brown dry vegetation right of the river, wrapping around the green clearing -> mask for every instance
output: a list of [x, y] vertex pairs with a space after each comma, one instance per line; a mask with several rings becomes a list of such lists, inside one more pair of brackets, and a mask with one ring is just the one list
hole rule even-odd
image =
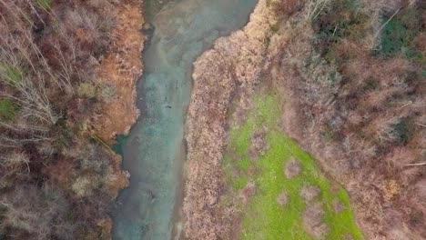
[[[362, 15], [351, 12], [356, 7]], [[189, 239], [232, 238], [233, 209], [220, 205], [228, 112], [231, 100], [239, 99], [237, 114], [244, 116], [258, 84], [285, 96], [283, 130], [349, 191], [366, 238], [425, 237], [424, 169], [416, 166], [424, 160], [425, 147], [421, 62], [371, 54], [371, 45], [383, 45], [378, 15], [419, 7], [404, 1], [351, 6], [346, 1], [260, 0], [242, 31], [218, 39], [198, 58], [187, 123]], [[332, 20], [330, 13], [340, 13], [340, 20]], [[347, 18], [357, 20], [348, 20], [348, 30], [339, 32], [340, 23], [333, 21]], [[324, 40], [321, 31], [327, 27]], [[424, 51], [419, 44], [424, 35], [413, 39], [418, 39], [413, 47]]]

